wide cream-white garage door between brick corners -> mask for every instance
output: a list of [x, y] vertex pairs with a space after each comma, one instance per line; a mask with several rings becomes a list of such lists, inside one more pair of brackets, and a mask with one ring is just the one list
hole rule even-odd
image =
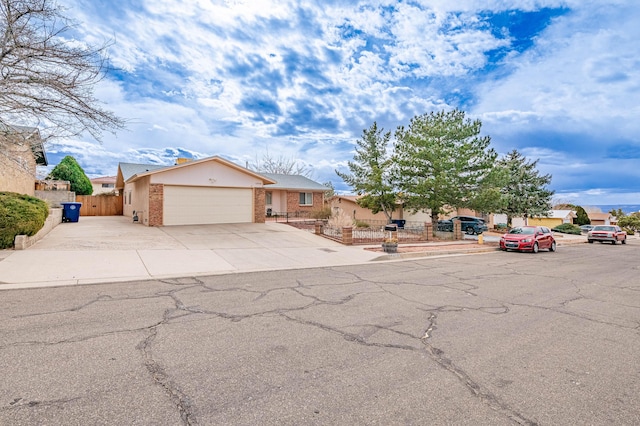
[[246, 188], [164, 187], [165, 225], [253, 222], [253, 191]]

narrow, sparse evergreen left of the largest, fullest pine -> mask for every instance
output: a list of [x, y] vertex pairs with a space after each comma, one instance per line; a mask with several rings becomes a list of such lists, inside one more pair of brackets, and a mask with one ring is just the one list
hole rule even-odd
[[361, 195], [358, 205], [374, 214], [383, 212], [388, 221], [396, 208], [397, 194], [391, 181], [391, 156], [387, 145], [391, 132], [383, 133], [377, 123], [362, 132], [353, 161], [348, 162], [351, 173], [336, 170], [338, 176]]

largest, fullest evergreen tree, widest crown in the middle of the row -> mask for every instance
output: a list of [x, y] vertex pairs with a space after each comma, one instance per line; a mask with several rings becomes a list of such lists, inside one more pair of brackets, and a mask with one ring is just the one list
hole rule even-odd
[[491, 138], [479, 136], [481, 126], [480, 120], [453, 110], [416, 116], [408, 128], [397, 129], [396, 178], [409, 209], [430, 210], [437, 223], [447, 208], [495, 199], [485, 184], [492, 180], [497, 154], [489, 148]]

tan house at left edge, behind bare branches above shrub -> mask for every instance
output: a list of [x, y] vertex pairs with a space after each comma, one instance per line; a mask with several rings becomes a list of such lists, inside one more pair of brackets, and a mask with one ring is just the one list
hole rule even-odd
[[0, 191], [34, 195], [36, 166], [47, 164], [37, 128], [0, 125]]

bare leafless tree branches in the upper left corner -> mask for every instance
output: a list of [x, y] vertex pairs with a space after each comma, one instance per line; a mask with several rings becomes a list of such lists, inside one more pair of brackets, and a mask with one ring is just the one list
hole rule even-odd
[[54, 0], [0, 0], [0, 125], [38, 128], [44, 141], [124, 128], [93, 94], [109, 43], [65, 38], [72, 29]]

